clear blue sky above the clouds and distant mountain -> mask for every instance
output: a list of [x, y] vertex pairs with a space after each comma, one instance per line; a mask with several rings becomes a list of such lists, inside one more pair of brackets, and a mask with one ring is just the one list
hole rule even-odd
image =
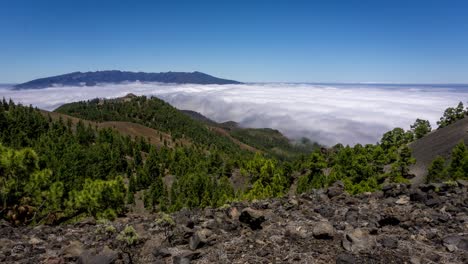
[[0, 0], [0, 83], [72, 71], [468, 83], [468, 1]]

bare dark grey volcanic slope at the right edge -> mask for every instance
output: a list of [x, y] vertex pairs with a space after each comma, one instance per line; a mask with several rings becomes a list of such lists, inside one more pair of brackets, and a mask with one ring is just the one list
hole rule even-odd
[[468, 144], [468, 117], [434, 130], [411, 143], [409, 146], [413, 150], [413, 157], [416, 159], [416, 164], [411, 167], [411, 173], [416, 175], [412, 182], [414, 184], [422, 183], [431, 162], [437, 156], [449, 158], [452, 149], [462, 140], [465, 144]]

